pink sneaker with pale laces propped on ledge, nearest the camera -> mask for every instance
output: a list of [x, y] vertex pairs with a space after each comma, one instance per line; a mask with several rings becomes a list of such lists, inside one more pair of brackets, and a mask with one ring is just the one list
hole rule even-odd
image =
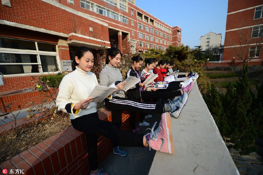
[[[156, 124], [157, 122], [155, 122]], [[153, 131], [155, 124], [153, 125], [152, 132], [146, 135], [150, 149], [161, 151], [164, 153], [174, 154], [174, 141], [172, 136], [172, 124], [171, 116], [168, 112], [162, 113], [162, 119], [159, 127]]]

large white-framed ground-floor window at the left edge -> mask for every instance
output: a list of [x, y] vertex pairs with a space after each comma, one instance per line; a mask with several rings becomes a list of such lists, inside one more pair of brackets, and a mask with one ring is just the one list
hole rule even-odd
[[[0, 37], [0, 70], [3, 74], [51, 72], [58, 68], [57, 57], [55, 44]], [[70, 60], [65, 61], [71, 64]]]

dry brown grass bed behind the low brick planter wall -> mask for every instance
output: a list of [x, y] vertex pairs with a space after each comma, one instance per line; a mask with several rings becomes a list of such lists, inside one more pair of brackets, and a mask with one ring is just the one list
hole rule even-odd
[[51, 118], [19, 128], [17, 136], [14, 129], [1, 135], [0, 164], [70, 126], [68, 114], [55, 114]]

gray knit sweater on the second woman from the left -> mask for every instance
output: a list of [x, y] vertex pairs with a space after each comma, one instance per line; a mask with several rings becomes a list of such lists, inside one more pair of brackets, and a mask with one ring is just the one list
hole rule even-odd
[[[117, 67], [106, 64], [100, 73], [100, 85], [108, 87], [116, 81], [123, 81], [120, 70]], [[125, 98], [123, 90], [113, 92], [112, 96]]]

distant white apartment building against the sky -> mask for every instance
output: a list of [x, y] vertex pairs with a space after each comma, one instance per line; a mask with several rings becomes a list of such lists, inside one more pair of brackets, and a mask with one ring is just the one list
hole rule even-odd
[[205, 34], [204, 36], [200, 37], [200, 49], [205, 51], [208, 50], [211, 47], [221, 46], [221, 40], [222, 40], [222, 34], [216, 34], [214, 32], [209, 32]]

